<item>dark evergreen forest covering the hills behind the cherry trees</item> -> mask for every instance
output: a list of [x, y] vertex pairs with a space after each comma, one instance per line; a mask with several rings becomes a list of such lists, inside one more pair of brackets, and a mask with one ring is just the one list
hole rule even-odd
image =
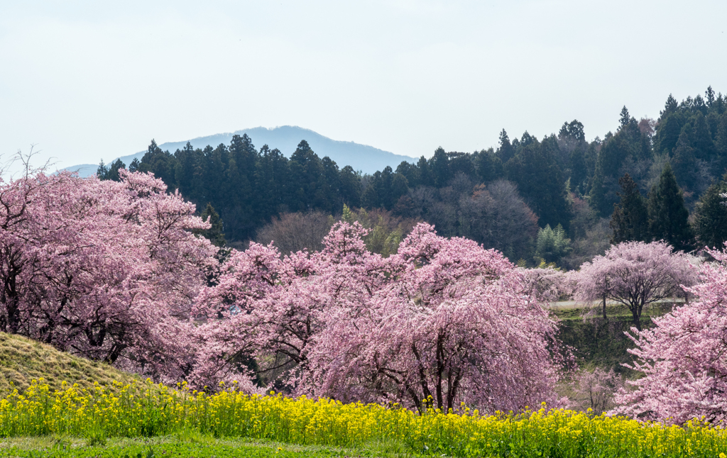
[[[313, 248], [347, 205], [373, 210], [371, 224], [380, 221], [389, 233], [426, 221], [438, 234], [470, 238], [513, 262], [576, 269], [608, 242], [666, 240], [693, 250], [727, 240], [720, 204], [726, 111], [727, 97], [709, 87], [682, 102], [670, 95], [656, 120], [636, 120], [624, 107], [616, 132], [590, 142], [578, 120], [542, 139], [528, 132], [510, 139], [503, 129], [497, 150], [439, 147], [428, 159], [373, 175], [319, 158], [305, 139], [286, 158], [267, 145], [257, 149], [246, 135], [173, 153], [152, 141], [129, 170], [154, 173], [200, 213], [209, 203], [230, 246], [285, 238], [318, 221], [321, 229], [304, 245], [286, 247]], [[102, 162], [98, 175], [118, 180], [124, 167]], [[326, 216], [335, 217], [327, 226]]]

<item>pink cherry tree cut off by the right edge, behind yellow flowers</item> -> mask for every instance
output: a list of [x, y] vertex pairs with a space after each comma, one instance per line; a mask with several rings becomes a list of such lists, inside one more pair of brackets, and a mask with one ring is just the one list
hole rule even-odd
[[727, 255], [710, 254], [717, 262], [705, 264], [702, 282], [690, 288], [697, 300], [632, 336], [632, 368], [646, 376], [616, 396], [616, 413], [675, 423], [727, 420]]

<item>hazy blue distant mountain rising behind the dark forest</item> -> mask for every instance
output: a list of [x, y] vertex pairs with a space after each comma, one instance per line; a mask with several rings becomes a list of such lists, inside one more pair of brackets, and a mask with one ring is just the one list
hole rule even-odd
[[[195, 148], [204, 148], [208, 144], [212, 147], [217, 147], [218, 144], [230, 144], [230, 140], [233, 135], [247, 134], [251, 139], [252, 143], [260, 149], [263, 144], [267, 144], [270, 149], [278, 148], [288, 158], [293, 154], [297, 144], [301, 140], [306, 140], [313, 151], [323, 158], [328, 156], [334, 160], [339, 168], [343, 168], [346, 165], [350, 165], [354, 170], [359, 170], [364, 173], [374, 173], [375, 171], [383, 170], [387, 165], [391, 168], [396, 168], [401, 161], [406, 160], [414, 163], [417, 161], [415, 158], [403, 155], [395, 155], [393, 152], [379, 150], [378, 148], [370, 147], [366, 144], [358, 144], [354, 142], [340, 142], [339, 140], [329, 139], [327, 136], [323, 136], [307, 128], [297, 126], [282, 126], [276, 128], [265, 128], [255, 127], [247, 128], [241, 131], [235, 131], [226, 134], [214, 134], [209, 136], [201, 136], [196, 139], [184, 140], [182, 142], [167, 142], [159, 145], [162, 150], [174, 153], [177, 149], [190, 142]], [[144, 156], [145, 151], [140, 151], [132, 155], [121, 156], [121, 162], [126, 165], [134, 160], [134, 158], [141, 158]], [[116, 159], [108, 161], [112, 163]], [[65, 168], [65, 170], [78, 171], [80, 176], [90, 176], [96, 173], [98, 164], [80, 164], [73, 165]]]

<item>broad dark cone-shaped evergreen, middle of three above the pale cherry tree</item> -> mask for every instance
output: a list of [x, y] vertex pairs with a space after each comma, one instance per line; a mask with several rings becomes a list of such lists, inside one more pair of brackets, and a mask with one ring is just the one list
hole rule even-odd
[[693, 239], [688, 217], [682, 191], [667, 163], [648, 195], [649, 233], [654, 240], [664, 240], [677, 250], [688, 250]]

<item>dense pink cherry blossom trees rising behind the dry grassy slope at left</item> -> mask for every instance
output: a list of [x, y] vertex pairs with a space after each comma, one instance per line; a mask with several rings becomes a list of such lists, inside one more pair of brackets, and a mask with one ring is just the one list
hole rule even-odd
[[[151, 175], [26, 169], [0, 183], [0, 330], [170, 380], [188, 371], [193, 298], [214, 247]], [[186, 339], [186, 340], [185, 340]]]

